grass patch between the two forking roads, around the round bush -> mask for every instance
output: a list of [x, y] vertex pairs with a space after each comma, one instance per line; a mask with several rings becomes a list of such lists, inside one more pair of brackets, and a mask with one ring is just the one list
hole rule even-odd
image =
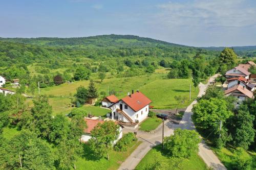
[[[156, 163], [156, 160], [161, 160], [166, 163], [173, 163], [173, 159], [166, 156], [161, 149], [161, 145], [157, 145], [152, 150], [150, 150], [145, 157], [136, 166], [136, 170], [146, 170], [152, 167]], [[167, 169], [189, 169], [189, 170], [200, 170], [207, 169], [204, 161], [197, 154], [191, 155], [188, 159], [183, 159], [180, 161], [180, 166], [170, 164]], [[164, 168], [162, 170], [165, 170]]]

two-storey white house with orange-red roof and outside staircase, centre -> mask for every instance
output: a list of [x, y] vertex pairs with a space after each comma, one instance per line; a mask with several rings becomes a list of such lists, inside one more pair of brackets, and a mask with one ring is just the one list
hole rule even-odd
[[117, 119], [119, 124], [136, 127], [148, 115], [149, 104], [152, 101], [143, 93], [137, 92], [125, 96], [111, 107], [112, 119]]

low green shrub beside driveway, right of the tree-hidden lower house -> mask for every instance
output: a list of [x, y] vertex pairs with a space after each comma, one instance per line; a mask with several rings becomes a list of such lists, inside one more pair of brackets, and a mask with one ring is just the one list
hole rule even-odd
[[114, 149], [115, 151], [127, 151], [127, 145], [132, 143], [133, 141], [136, 141], [137, 138], [134, 133], [129, 132], [116, 143]]

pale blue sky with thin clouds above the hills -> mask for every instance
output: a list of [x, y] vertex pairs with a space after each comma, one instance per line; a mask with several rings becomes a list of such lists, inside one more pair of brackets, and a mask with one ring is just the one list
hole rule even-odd
[[256, 1], [0, 0], [0, 37], [105, 34], [189, 46], [256, 45]]

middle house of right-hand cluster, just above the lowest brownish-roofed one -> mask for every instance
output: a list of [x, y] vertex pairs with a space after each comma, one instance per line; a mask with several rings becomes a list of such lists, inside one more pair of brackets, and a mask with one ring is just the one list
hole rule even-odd
[[232, 88], [236, 85], [241, 85], [245, 88], [247, 88], [250, 91], [254, 91], [255, 89], [255, 84], [249, 83], [249, 80], [243, 78], [243, 77], [239, 77], [239, 78], [231, 78], [228, 80], [228, 85], [227, 88]]

